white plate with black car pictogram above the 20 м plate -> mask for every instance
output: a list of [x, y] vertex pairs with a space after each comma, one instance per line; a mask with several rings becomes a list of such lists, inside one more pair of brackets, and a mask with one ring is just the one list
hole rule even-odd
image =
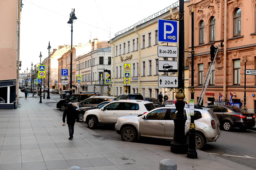
[[159, 72], [178, 72], [178, 62], [159, 60], [158, 71]]

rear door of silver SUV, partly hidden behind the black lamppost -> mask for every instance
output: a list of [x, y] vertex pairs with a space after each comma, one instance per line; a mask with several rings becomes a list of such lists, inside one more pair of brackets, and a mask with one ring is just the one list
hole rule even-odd
[[[168, 138], [173, 138], [174, 136], [174, 122], [173, 122], [173, 118], [176, 115], [176, 109], [172, 108], [170, 109], [170, 114], [168, 114], [168, 118], [166, 119], [166, 122], [164, 124], [164, 137], [168, 137]], [[186, 110], [184, 109], [184, 116], [186, 119], [185, 122], [185, 131], [186, 128], [189, 127], [189, 120], [187, 119], [187, 114], [186, 114]]]

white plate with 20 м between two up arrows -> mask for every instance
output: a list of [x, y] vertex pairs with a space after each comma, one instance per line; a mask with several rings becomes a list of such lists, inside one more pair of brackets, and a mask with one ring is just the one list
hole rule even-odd
[[158, 76], [159, 88], [177, 88], [178, 76]]

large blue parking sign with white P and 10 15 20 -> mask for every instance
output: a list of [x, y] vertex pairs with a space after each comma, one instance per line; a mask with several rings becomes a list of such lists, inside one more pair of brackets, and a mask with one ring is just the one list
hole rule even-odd
[[158, 41], [178, 42], [178, 21], [158, 19]]

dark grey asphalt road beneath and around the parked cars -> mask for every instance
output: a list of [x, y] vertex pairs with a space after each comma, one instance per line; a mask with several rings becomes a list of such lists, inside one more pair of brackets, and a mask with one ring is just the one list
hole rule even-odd
[[[50, 94], [51, 99], [60, 99], [60, 94]], [[46, 103], [53, 109], [56, 109], [56, 103]], [[62, 113], [62, 111], [59, 111]], [[78, 125], [78, 123], [76, 123]], [[87, 128], [87, 125], [80, 122], [78, 126]], [[97, 138], [104, 138], [109, 140], [122, 140], [120, 135], [115, 132], [114, 126], [98, 126], [93, 129], [98, 135]], [[170, 146], [171, 140], [154, 139], [154, 138], [141, 138], [138, 143], [148, 143], [155, 145]], [[206, 144], [203, 151], [215, 154], [221, 158], [243, 164], [245, 166], [256, 169], [256, 131], [246, 130], [241, 131], [239, 128], [234, 128], [231, 132], [221, 131], [221, 137], [217, 142], [210, 142]]]

